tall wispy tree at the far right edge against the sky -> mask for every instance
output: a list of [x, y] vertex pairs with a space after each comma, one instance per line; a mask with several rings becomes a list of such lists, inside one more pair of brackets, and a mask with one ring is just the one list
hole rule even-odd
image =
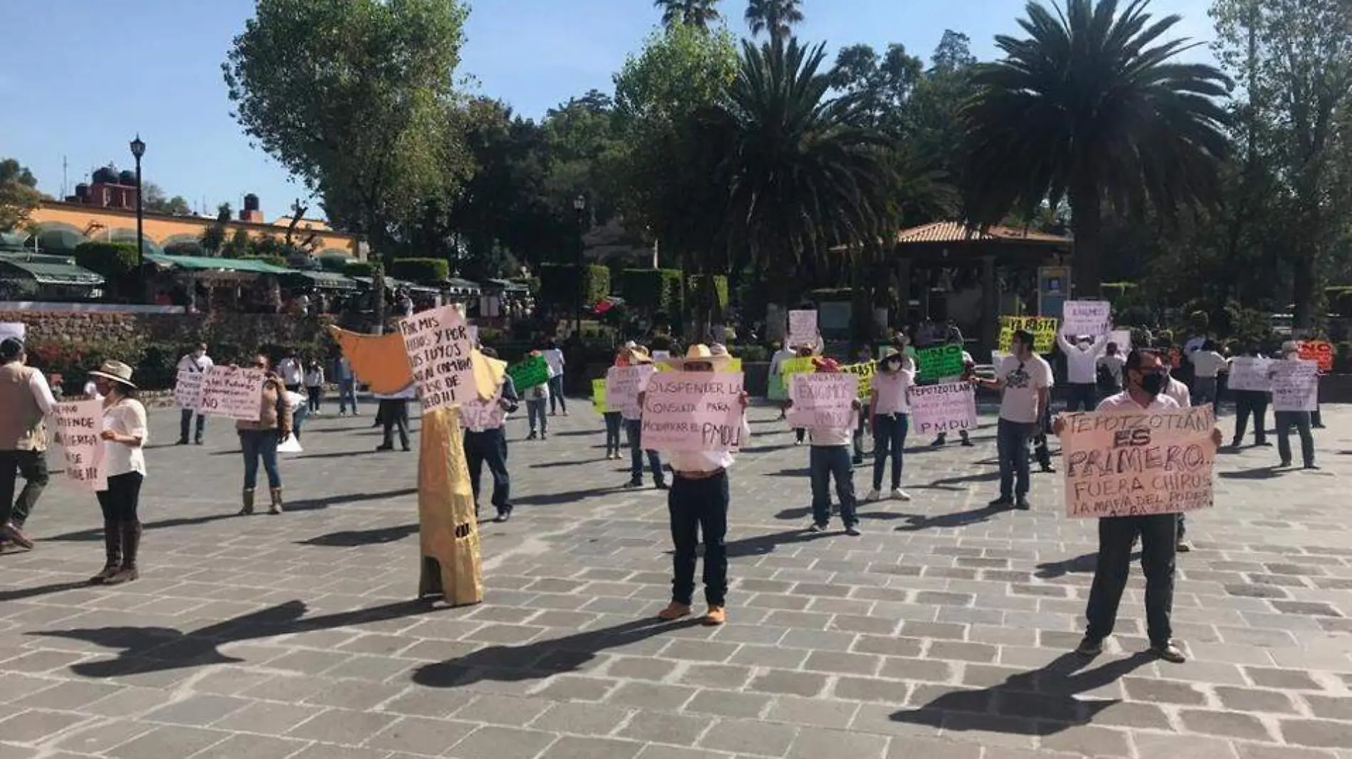
[[1328, 0], [1215, 0], [1211, 15], [1248, 99], [1236, 124], [1247, 177], [1261, 182], [1268, 163], [1280, 178], [1275, 196], [1251, 193], [1247, 207], [1284, 209], [1295, 323], [1310, 327], [1352, 235], [1352, 14]]

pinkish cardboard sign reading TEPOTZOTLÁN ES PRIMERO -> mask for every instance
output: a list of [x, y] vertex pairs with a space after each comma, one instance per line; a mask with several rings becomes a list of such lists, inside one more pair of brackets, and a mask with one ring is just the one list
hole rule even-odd
[[1210, 506], [1214, 429], [1210, 404], [1065, 416], [1067, 516], [1145, 516]]

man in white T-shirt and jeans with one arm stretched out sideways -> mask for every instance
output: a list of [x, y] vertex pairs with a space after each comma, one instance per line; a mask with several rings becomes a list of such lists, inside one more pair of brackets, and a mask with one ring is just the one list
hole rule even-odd
[[1014, 332], [1010, 355], [995, 367], [994, 380], [972, 377], [972, 384], [988, 390], [1002, 390], [1000, 417], [995, 428], [995, 448], [1000, 462], [1000, 497], [994, 508], [1030, 509], [1028, 502], [1028, 442], [1041, 427], [1042, 412], [1051, 397], [1052, 367], [1033, 352], [1033, 334]]

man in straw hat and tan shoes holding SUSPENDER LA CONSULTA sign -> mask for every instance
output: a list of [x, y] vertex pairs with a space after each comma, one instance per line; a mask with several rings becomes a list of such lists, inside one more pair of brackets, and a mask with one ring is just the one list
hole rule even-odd
[[[717, 371], [731, 361], [721, 344], [691, 346], [684, 359], [671, 362], [677, 371]], [[746, 393], [742, 405], [741, 439], [750, 439], [746, 423]], [[639, 398], [642, 405], [642, 397]], [[695, 596], [695, 562], [700, 536], [704, 543], [704, 601], [708, 612], [706, 625], [727, 621], [727, 502], [730, 498], [727, 470], [733, 466], [730, 451], [673, 451], [672, 489], [667, 494], [671, 515], [672, 543], [672, 602], [657, 617], [672, 621], [690, 614]]]

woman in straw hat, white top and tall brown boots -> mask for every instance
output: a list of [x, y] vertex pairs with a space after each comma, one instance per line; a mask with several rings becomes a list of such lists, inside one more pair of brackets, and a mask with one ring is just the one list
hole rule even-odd
[[103, 396], [103, 462], [108, 489], [100, 490], [103, 544], [107, 560], [91, 585], [120, 585], [141, 577], [137, 554], [141, 550], [141, 482], [146, 478], [146, 407], [137, 400], [131, 367], [105, 361], [91, 371]]

